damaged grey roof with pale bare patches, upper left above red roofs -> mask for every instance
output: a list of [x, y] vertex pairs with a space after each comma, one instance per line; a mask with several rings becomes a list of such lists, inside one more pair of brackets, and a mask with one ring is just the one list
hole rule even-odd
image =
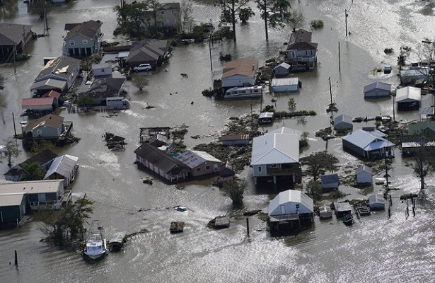
[[79, 59], [68, 56], [57, 57], [45, 64], [44, 69], [40, 71], [40, 74], [37, 75], [35, 81], [39, 81], [46, 76], [50, 76], [50, 74], [54, 74], [55, 76], [59, 76], [64, 79], [69, 79], [71, 74], [73, 74], [74, 69], [76, 69], [76, 67], [79, 65]]

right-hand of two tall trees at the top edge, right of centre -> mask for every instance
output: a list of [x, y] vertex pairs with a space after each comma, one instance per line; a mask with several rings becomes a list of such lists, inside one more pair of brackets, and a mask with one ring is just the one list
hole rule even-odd
[[269, 40], [268, 28], [284, 27], [290, 19], [291, 8], [288, 0], [254, 0], [260, 9], [261, 18], [265, 21], [266, 41]]

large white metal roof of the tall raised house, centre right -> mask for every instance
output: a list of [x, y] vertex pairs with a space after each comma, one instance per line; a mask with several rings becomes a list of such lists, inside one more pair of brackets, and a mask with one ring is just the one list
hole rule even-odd
[[299, 135], [268, 133], [253, 139], [251, 165], [298, 163]]

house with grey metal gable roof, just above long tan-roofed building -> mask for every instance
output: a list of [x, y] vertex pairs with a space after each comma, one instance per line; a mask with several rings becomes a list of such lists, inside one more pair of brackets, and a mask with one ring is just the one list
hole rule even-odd
[[71, 182], [74, 181], [77, 168], [79, 166], [79, 157], [64, 154], [54, 158], [52, 165], [45, 173], [44, 180], [59, 180], [63, 179], [64, 187], [69, 187]]

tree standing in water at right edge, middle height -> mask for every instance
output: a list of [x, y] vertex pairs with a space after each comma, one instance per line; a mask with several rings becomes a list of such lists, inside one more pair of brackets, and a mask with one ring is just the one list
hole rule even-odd
[[414, 175], [420, 179], [421, 190], [424, 190], [424, 178], [435, 171], [435, 160], [431, 154], [429, 149], [416, 149], [414, 151], [414, 160], [405, 163], [405, 166], [412, 168]]

